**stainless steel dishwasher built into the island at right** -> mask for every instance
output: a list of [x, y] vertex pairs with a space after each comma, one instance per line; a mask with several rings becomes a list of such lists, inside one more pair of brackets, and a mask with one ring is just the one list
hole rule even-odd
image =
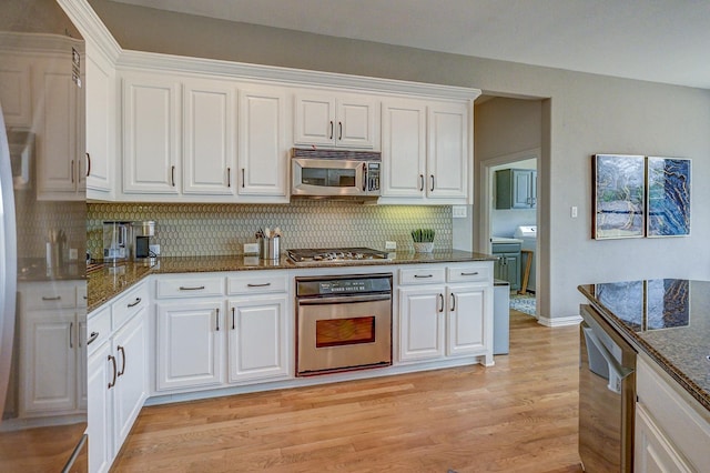
[[587, 472], [631, 472], [636, 351], [582, 304], [579, 330], [579, 456]]

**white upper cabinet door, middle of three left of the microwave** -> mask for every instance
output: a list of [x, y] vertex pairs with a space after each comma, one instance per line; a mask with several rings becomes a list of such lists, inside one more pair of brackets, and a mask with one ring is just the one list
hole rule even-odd
[[236, 90], [217, 81], [184, 85], [183, 193], [236, 194]]

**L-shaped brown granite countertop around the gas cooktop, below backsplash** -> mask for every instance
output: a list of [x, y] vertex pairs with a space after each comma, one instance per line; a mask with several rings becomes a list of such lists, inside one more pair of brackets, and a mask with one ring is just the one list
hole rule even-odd
[[496, 261], [490, 254], [471, 253], [468, 251], [448, 250], [433, 253], [396, 252], [389, 253], [386, 260], [346, 261], [341, 263], [307, 263], [294, 264], [285, 254], [278, 260], [260, 260], [258, 256], [244, 254], [220, 256], [182, 256], [159, 258], [155, 264], [143, 262], [124, 262], [116, 265], [104, 265], [90, 272], [88, 280], [89, 312], [104, 302], [115, 298], [121, 292], [146, 278], [149, 274], [200, 273], [222, 271], [251, 270], [293, 270], [333, 266], [361, 266], [374, 264], [418, 264], [418, 263], [454, 263], [470, 261]]

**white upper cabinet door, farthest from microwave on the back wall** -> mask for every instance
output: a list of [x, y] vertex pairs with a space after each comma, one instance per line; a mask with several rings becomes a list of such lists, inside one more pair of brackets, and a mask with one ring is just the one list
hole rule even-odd
[[151, 74], [123, 78], [123, 192], [178, 194], [180, 83]]

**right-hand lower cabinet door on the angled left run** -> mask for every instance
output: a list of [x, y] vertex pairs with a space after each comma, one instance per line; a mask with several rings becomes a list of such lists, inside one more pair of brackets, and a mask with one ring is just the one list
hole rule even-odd
[[113, 452], [121, 450], [148, 399], [148, 330], [143, 309], [113, 335], [116, 381], [113, 391]]

